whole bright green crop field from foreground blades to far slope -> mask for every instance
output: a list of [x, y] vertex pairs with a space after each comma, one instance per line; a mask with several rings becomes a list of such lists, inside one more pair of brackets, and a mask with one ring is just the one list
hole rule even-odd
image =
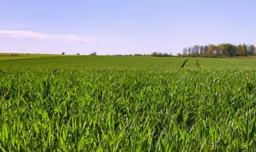
[[0, 149], [256, 151], [256, 59], [0, 61]]

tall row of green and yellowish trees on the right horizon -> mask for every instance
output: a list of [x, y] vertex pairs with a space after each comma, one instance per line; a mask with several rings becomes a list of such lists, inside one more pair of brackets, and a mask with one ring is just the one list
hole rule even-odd
[[200, 57], [223, 57], [223, 56], [253, 56], [256, 54], [254, 45], [233, 45], [233, 44], [219, 44], [219, 45], [195, 45], [192, 48], [183, 48], [182, 54], [177, 56], [200, 56]]

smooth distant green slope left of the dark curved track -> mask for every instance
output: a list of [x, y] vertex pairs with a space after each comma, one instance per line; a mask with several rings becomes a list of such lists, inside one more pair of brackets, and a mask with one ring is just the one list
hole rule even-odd
[[86, 67], [86, 68], [170, 68], [180, 67], [186, 58], [156, 58], [134, 56], [60, 56], [2, 60], [0, 67]]

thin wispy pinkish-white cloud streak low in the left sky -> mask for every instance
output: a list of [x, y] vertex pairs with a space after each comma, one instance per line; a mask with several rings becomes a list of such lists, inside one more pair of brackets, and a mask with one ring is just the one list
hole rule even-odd
[[35, 38], [35, 39], [59, 39], [63, 42], [92, 42], [95, 38], [81, 38], [78, 35], [51, 35], [38, 32], [30, 31], [19, 31], [19, 30], [0, 30], [0, 36], [9, 36], [12, 38]]

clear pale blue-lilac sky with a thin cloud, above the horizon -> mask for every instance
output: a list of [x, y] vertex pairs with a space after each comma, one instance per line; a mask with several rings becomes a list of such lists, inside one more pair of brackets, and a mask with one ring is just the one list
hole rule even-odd
[[151, 54], [256, 45], [255, 0], [0, 0], [0, 52]]

